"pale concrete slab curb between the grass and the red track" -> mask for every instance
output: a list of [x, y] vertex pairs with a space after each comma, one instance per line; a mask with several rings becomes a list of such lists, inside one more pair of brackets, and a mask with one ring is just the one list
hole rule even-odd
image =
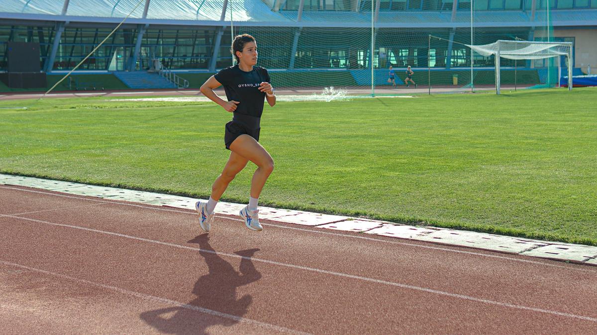
[[[191, 210], [195, 208], [195, 202], [198, 200], [190, 197], [171, 196], [169, 194], [3, 174], [0, 174], [0, 185], [33, 187], [79, 196], [109, 198]], [[245, 204], [220, 201], [216, 208], [216, 214], [236, 216], [244, 206]], [[432, 242], [448, 246], [471, 247], [494, 252], [597, 266], [597, 247], [581, 244], [529, 240], [527, 238], [486, 234], [483, 232], [457, 231], [446, 228], [398, 225], [391, 222], [351, 218], [349, 216], [327, 215], [270, 207], [260, 207], [259, 218], [269, 222], [284, 222], [323, 229], [363, 232], [365, 234]]]

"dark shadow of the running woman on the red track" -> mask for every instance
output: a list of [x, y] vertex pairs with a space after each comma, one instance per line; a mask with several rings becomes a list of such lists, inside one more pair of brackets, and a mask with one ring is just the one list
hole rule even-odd
[[253, 296], [245, 294], [236, 299], [236, 288], [260, 280], [251, 257], [259, 249], [235, 252], [242, 256], [239, 271], [226, 262], [210, 246], [209, 235], [202, 234], [190, 240], [201, 248], [199, 254], [205, 259], [209, 273], [202, 275], [195, 283], [193, 294], [196, 298], [184, 306], [156, 309], [141, 313], [147, 324], [162, 333], [205, 334], [213, 325], [229, 327], [239, 322], [253, 302]]

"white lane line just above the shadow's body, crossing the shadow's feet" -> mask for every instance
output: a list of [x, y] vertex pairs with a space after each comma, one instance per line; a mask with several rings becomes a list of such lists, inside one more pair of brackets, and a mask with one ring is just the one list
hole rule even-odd
[[154, 244], [161, 244], [162, 246], [176, 247], [176, 248], [179, 248], [179, 249], [193, 250], [193, 251], [196, 251], [196, 252], [213, 253], [214, 255], [227, 256], [227, 257], [230, 257], [230, 258], [247, 259], [247, 260], [251, 260], [253, 262], [261, 262], [261, 263], [266, 263], [266, 264], [271, 264], [271, 265], [285, 266], [287, 268], [294, 268], [294, 269], [301, 269], [301, 270], [304, 270], [304, 271], [318, 272], [320, 274], [335, 275], [337, 277], [351, 278], [351, 279], [356, 279], [356, 280], [368, 281], [370, 283], [377, 283], [377, 284], [385, 284], [385, 285], [389, 285], [389, 286], [396, 286], [396, 287], [401, 287], [402, 289], [423, 291], [423, 292], [426, 292], [426, 293], [439, 294], [439, 295], [442, 295], [442, 296], [455, 297], [455, 298], [458, 298], [458, 299], [470, 300], [470, 301], [474, 301], [474, 302], [488, 303], [488, 304], [491, 304], [491, 305], [503, 306], [503, 307], [514, 308], [514, 309], [522, 309], [522, 310], [525, 310], [525, 311], [540, 312], [540, 313], [558, 315], [560, 317], [576, 318], [576, 319], [580, 319], [580, 320], [597, 322], [597, 318], [586, 317], [586, 316], [583, 316], [583, 315], [576, 315], [576, 314], [570, 314], [570, 313], [564, 313], [564, 312], [558, 312], [558, 311], [551, 311], [549, 309], [541, 309], [541, 308], [534, 308], [534, 307], [528, 307], [528, 306], [522, 306], [522, 305], [515, 305], [513, 303], [498, 302], [498, 301], [489, 300], [489, 299], [482, 299], [482, 298], [477, 298], [477, 297], [472, 297], [472, 296], [466, 296], [464, 294], [457, 294], [457, 293], [450, 293], [450, 292], [446, 292], [446, 291], [439, 291], [439, 290], [428, 289], [426, 287], [413, 286], [413, 285], [401, 284], [401, 283], [394, 283], [392, 281], [386, 281], [386, 280], [379, 280], [379, 279], [374, 279], [374, 278], [362, 277], [362, 276], [359, 276], [359, 275], [344, 274], [342, 272], [328, 271], [328, 270], [318, 269], [318, 268], [310, 268], [309, 266], [301, 266], [301, 265], [294, 265], [294, 264], [290, 264], [290, 263], [276, 262], [275, 260], [267, 260], [267, 259], [253, 258], [253, 257], [247, 257], [247, 256], [239, 256], [239, 255], [231, 254], [231, 253], [215, 252], [213, 250], [206, 250], [206, 249], [189, 247], [189, 246], [181, 246], [180, 244], [174, 244], [174, 243], [168, 243], [168, 242], [162, 242], [162, 241], [156, 241], [156, 240], [149, 240], [149, 238], [142, 238], [142, 237], [136, 237], [136, 236], [131, 236], [131, 235], [119, 234], [118, 232], [103, 231], [103, 230], [99, 230], [99, 229], [85, 228], [85, 227], [79, 227], [79, 226], [74, 226], [74, 225], [57, 224], [57, 223], [49, 222], [49, 221], [42, 221], [42, 220], [29, 219], [29, 218], [21, 218], [20, 216], [10, 216], [10, 217], [11, 218], [16, 218], [16, 219], [23, 219], [23, 220], [26, 220], [26, 221], [38, 222], [38, 223], [41, 223], [41, 224], [54, 225], [54, 226], [58, 226], [58, 227], [66, 227], [66, 228], [81, 229], [81, 230], [91, 231], [91, 232], [99, 232], [100, 234], [106, 234], [106, 235], [113, 235], [113, 236], [118, 236], [118, 237], [130, 238], [131, 240], [149, 242], [149, 243], [154, 243]]

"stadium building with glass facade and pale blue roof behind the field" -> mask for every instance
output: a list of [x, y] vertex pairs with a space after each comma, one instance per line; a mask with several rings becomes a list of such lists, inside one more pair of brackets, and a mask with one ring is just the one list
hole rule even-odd
[[[247, 32], [261, 66], [334, 72], [339, 82], [346, 72], [358, 83], [371, 61], [379, 71], [457, 71], [473, 58], [475, 69], [490, 69], [493, 58], [471, 57], [463, 45], [471, 38], [573, 42], [576, 73], [597, 72], [597, 0], [473, 0], [473, 8], [471, 0], [2, 0], [0, 71], [13, 41], [38, 42], [48, 74], [73, 69], [131, 14], [79, 71], [140, 72], [158, 59], [168, 69], [213, 73], [231, 64], [231, 36]], [[547, 66], [513, 62], [502, 64]]]

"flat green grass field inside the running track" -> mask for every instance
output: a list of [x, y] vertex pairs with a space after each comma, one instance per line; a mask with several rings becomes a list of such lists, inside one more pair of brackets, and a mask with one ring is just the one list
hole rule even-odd
[[[276, 168], [260, 204], [597, 245], [595, 101], [579, 88], [266, 106]], [[0, 101], [0, 172], [207, 198], [230, 117], [213, 103]], [[248, 201], [253, 170], [223, 200]]]

